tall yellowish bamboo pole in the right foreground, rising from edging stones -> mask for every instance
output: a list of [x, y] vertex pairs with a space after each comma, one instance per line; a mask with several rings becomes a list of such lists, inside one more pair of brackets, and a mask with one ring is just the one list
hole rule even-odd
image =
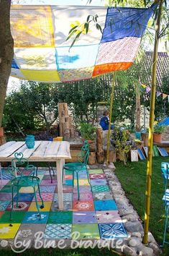
[[156, 90], [156, 72], [157, 72], [157, 48], [160, 34], [160, 21], [162, 13], [163, 0], [160, 0], [160, 6], [157, 13], [156, 32], [155, 32], [155, 46], [152, 62], [152, 88], [150, 99], [150, 122], [149, 122], [149, 137], [148, 137], [148, 157], [147, 157], [147, 182], [146, 182], [146, 205], [145, 205], [145, 226], [143, 243], [148, 242], [148, 229], [150, 221], [150, 195], [151, 195], [151, 181], [152, 181], [152, 142], [153, 142], [153, 126], [155, 113], [155, 90]]

